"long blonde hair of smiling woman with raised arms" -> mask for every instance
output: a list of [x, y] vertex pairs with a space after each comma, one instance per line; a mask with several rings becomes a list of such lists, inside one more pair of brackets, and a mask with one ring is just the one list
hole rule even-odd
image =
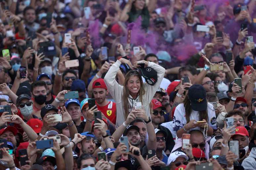
[[141, 78], [141, 75], [139, 74], [138, 71], [135, 70], [130, 70], [129, 72], [127, 72], [127, 74], [125, 75], [125, 79], [124, 79], [124, 87], [123, 87], [123, 95], [122, 95], [122, 102], [123, 102], [123, 106], [124, 106], [124, 117], [125, 119], [127, 118], [128, 114], [129, 114], [129, 101], [128, 101], [128, 97], [130, 94], [130, 91], [128, 90], [127, 84], [128, 84], [128, 80], [130, 79], [130, 77], [132, 76], [137, 76], [140, 79], [140, 84], [141, 84], [141, 88], [137, 94], [137, 96], [140, 96], [140, 101], [143, 105], [143, 101], [142, 101], [142, 96], [145, 94], [145, 90], [143, 87], [143, 81]]

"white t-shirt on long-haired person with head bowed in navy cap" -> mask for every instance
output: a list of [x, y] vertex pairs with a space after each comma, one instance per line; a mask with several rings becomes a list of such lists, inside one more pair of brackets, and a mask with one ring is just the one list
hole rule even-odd
[[[177, 130], [183, 128], [183, 126], [187, 124], [185, 113], [186, 111], [185, 111], [184, 104], [183, 103], [179, 104], [176, 107], [174, 112], [172, 133], [176, 134]], [[216, 115], [215, 115], [214, 107], [211, 103], [207, 104], [207, 113], [208, 113], [208, 127], [212, 127], [216, 129]], [[192, 119], [196, 121], [201, 121], [199, 120], [198, 111], [192, 110], [190, 114], [190, 120]], [[191, 130], [200, 130], [200, 127], [191, 128], [190, 131]]]

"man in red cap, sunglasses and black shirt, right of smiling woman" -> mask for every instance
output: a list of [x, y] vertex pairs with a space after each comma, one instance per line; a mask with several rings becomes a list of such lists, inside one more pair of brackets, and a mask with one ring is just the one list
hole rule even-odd
[[171, 152], [175, 145], [173, 136], [168, 128], [160, 125], [161, 116], [165, 114], [165, 107], [163, 107], [162, 104], [156, 99], [153, 99], [151, 103], [153, 105], [153, 108], [152, 108], [153, 112], [150, 114], [150, 116], [151, 116], [153, 127], [159, 130], [165, 131], [166, 139], [167, 139], [166, 150], [169, 150]]

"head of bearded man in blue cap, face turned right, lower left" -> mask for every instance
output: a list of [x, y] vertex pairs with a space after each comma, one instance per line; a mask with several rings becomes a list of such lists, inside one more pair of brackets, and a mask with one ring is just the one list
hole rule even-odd
[[87, 153], [92, 155], [95, 151], [97, 138], [91, 132], [83, 132], [81, 135], [86, 136], [81, 142], [77, 143], [77, 148], [79, 149], [80, 155], [82, 153]]

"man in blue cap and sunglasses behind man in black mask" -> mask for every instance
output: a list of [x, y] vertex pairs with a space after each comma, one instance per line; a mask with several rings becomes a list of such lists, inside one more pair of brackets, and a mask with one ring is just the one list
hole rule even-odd
[[46, 73], [42, 73], [37, 77], [36, 80], [42, 80], [46, 83], [47, 98], [45, 104], [51, 104], [53, 100], [56, 98], [56, 96], [52, 94], [53, 84], [51, 77]]

